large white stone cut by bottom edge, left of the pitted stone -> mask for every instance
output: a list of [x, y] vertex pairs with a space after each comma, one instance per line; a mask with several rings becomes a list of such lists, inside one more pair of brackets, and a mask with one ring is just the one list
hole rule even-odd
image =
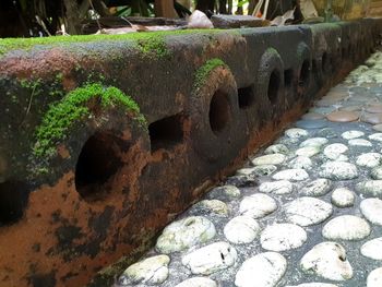
[[275, 287], [284, 276], [286, 259], [275, 252], [260, 253], [246, 260], [236, 274], [238, 287]]

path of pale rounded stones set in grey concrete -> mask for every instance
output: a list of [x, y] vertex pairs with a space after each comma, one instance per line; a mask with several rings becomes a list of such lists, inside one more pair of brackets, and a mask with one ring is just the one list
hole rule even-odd
[[167, 226], [120, 286], [382, 287], [380, 122], [377, 52]]

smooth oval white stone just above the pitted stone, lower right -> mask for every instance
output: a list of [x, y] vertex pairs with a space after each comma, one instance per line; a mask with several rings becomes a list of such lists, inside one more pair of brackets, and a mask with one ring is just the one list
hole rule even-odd
[[322, 229], [322, 236], [330, 240], [361, 240], [371, 232], [369, 224], [354, 215], [342, 215], [331, 219]]

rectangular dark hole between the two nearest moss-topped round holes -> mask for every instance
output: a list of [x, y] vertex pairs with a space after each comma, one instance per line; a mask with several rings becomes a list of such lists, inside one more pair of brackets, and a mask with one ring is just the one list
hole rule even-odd
[[175, 115], [148, 125], [152, 152], [159, 148], [170, 150], [183, 140], [182, 118]]

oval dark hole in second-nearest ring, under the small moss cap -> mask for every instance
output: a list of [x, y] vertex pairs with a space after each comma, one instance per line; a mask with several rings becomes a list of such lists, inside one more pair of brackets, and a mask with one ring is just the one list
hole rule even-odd
[[214, 133], [226, 128], [230, 119], [228, 96], [222, 91], [216, 91], [210, 104], [210, 127]]

